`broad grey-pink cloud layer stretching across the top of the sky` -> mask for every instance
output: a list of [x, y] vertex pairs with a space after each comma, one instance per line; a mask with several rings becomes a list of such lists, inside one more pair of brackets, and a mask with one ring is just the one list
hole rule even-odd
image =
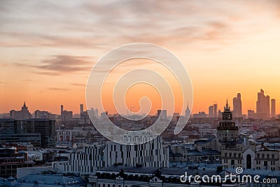
[[214, 41], [222, 48], [266, 28], [266, 22], [254, 20], [270, 12], [280, 15], [278, 0], [68, 2], [1, 4], [1, 46], [108, 50], [131, 42], [186, 46]]

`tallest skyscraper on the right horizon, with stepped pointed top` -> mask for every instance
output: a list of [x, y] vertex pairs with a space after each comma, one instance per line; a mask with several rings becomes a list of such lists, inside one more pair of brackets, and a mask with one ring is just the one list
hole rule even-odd
[[269, 118], [269, 96], [265, 96], [265, 92], [260, 89], [258, 92], [258, 101], [257, 105], [257, 115], [258, 118], [268, 119]]

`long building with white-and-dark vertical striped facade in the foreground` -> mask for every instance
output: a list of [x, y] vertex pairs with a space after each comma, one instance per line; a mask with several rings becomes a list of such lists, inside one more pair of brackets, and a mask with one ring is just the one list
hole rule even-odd
[[169, 149], [162, 144], [162, 137], [133, 146], [111, 141], [106, 145], [96, 143], [70, 153], [68, 162], [52, 162], [52, 169], [57, 173], [95, 174], [97, 169], [116, 164], [168, 167]]

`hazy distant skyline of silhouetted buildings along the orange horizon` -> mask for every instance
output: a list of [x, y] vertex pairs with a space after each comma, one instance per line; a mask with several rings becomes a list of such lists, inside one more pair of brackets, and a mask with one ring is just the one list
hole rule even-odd
[[[269, 119], [269, 118], [275, 118], [277, 117], [278, 115], [280, 116], [280, 113], [276, 113], [276, 99], [269, 99], [269, 95], [264, 95], [264, 90], [260, 89], [260, 92], [258, 92], [258, 99], [257, 101], [255, 102], [255, 107], [257, 110], [252, 110], [251, 108], [244, 111], [242, 110], [242, 100], [241, 100], [241, 93], [237, 93], [237, 97], [233, 97], [232, 98], [232, 104], [229, 104], [229, 106], [232, 106], [232, 113], [233, 113], [233, 116], [236, 118], [236, 117], [244, 117], [244, 115], [246, 116], [246, 118], [249, 118], [248, 117], [248, 114], [251, 114], [251, 115], [254, 115], [254, 118], [263, 118], [263, 119]], [[264, 102], [262, 101], [262, 99], [265, 99], [266, 102], [268, 102], [268, 105], [267, 103], [264, 104]], [[227, 99], [227, 103], [228, 103], [228, 99]], [[223, 105], [223, 104], [222, 104]], [[114, 115], [114, 114], [118, 114], [118, 113], [110, 113], [109, 111], [102, 111], [98, 108], [94, 108], [94, 107], [90, 107], [90, 109], [84, 109], [84, 104], [79, 104], [79, 111], [78, 112], [73, 112], [74, 110], [73, 109], [64, 109], [64, 104], [61, 104], [60, 105], [60, 111], [59, 113], [54, 113], [52, 111], [48, 111], [48, 110], [45, 110], [45, 109], [34, 109], [34, 111], [31, 113], [31, 111], [28, 110], [28, 107], [26, 105], [26, 102], [24, 102], [24, 104], [22, 105], [22, 110], [21, 111], [16, 111], [16, 109], [10, 109], [9, 112], [6, 112], [6, 113], [10, 113], [11, 118], [20, 118], [20, 117], [15, 117], [15, 116], [25, 116], [25, 118], [29, 118], [31, 114], [34, 114], [34, 118], [36, 118], [35, 116], [39, 116], [39, 115], [43, 115], [43, 116], [50, 116], [50, 115], [64, 115], [62, 113], [65, 113], [66, 116], [73, 116], [73, 115], [78, 115], [78, 114], [81, 114], [81, 113], [85, 113], [85, 111], [93, 111], [94, 113], [98, 113], [97, 115], [99, 116], [99, 112], [100, 113], [105, 113], [106, 112], [106, 115]], [[223, 107], [224, 106], [220, 106], [219, 108], [219, 105], [218, 103], [214, 103], [213, 105], [210, 105], [208, 107], [208, 113], [205, 113], [207, 114], [209, 118], [217, 118], [218, 117], [218, 112], [220, 111], [223, 111]], [[268, 111], [267, 111], [268, 109]], [[263, 111], [266, 111], [268, 113], [264, 113]], [[168, 110], [166, 109], [163, 109], [163, 111], [165, 111], [165, 116], [169, 116], [169, 117], [172, 117], [174, 115], [174, 113], [176, 113], [176, 111], [174, 111], [174, 113], [169, 113]], [[189, 107], [187, 106], [186, 110], [184, 111], [184, 113], [182, 113], [181, 116], [186, 116], [187, 113], [189, 111]], [[205, 110], [207, 111], [207, 109]], [[195, 114], [197, 115], [198, 113], [202, 112], [204, 113], [205, 111], [197, 111], [197, 112], [192, 112], [190, 113], [191, 115]], [[23, 112], [23, 113], [21, 113]], [[155, 113], [143, 113], [142, 115], [150, 115], [150, 116], [159, 116], [159, 112], [160, 112], [160, 109], [156, 109], [156, 112]], [[71, 115], [68, 115], [66, 113], [71, 113]], [[4, 113], [3, 113], [4, 114]], [[120, 113], [119, 113], [120, 114]], [[85, 114], [83, 114], [85, 115]], [[127, 113], [122, 113], [122, 115], [132, 115], [131, 111], [128, 111], [127, 110]], [[177, 115], [177, 113], [176, 113]], [[178, 113], [179, 115], [179, 113]], [[28, 116], [28, 117], [27, 117]], [[187, 115], [188, 116], [188, 115]]]

